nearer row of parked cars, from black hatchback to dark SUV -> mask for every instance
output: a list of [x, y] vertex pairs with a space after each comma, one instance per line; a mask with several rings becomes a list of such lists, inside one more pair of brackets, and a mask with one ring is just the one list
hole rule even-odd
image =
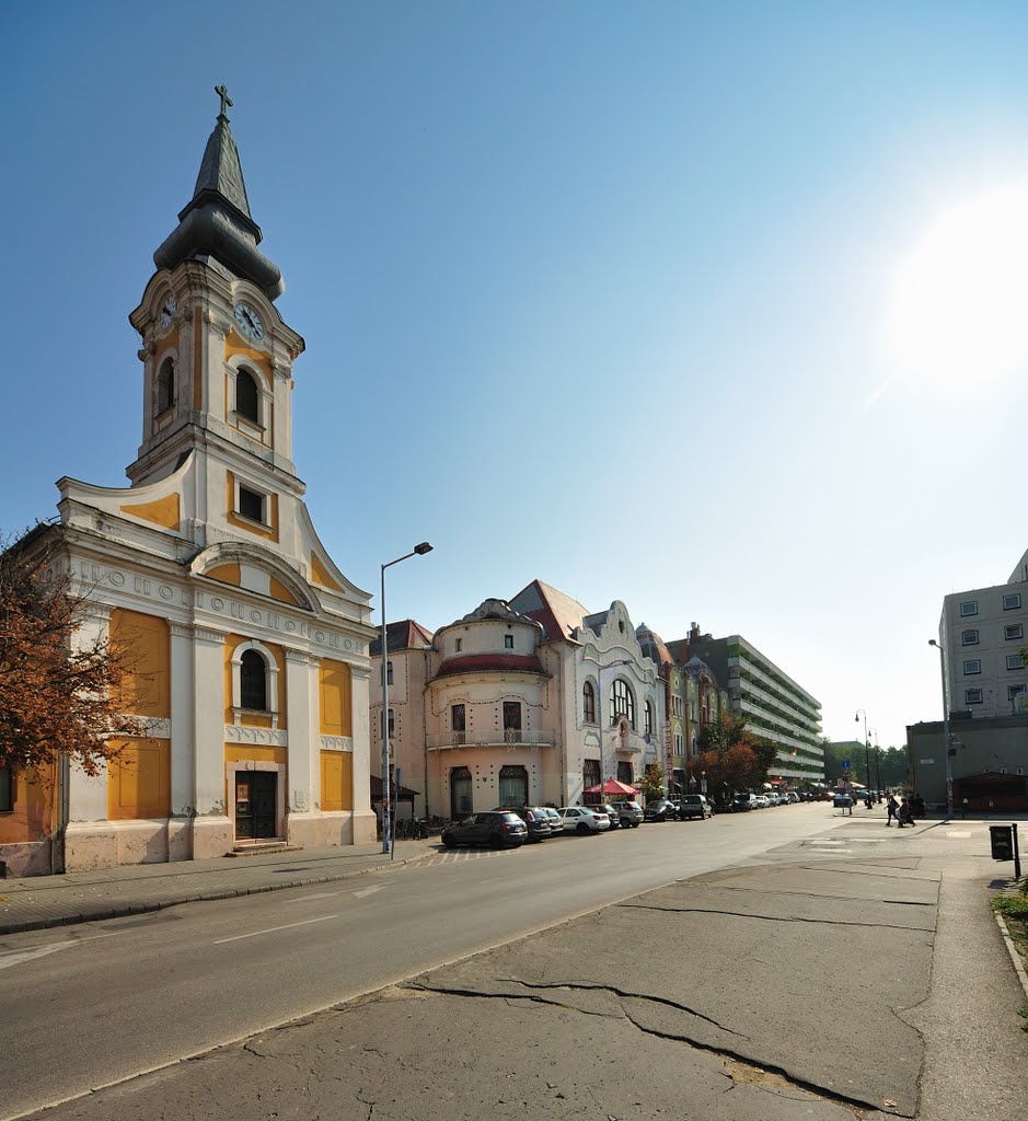
[[676, 818], [711, 817], [713, 809], [701, 795], [680, 799], [661, 798], [646, 809], [638, 802], [618, 802], [603, 806], [500, 806], [471, 814], [443, 828], [442, 842], [447, 849], [461, 844], [493, 847], [517, 847], [526, 841], [544, 841], [558, 833], [583, 836], [610, 830], [637, 830], [643, 822], [667, 822]]

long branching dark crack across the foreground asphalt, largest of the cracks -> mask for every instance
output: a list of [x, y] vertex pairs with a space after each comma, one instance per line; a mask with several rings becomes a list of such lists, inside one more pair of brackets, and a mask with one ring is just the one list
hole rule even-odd
[[[913, 1117], [913, 1114], [910, 1113], [899, 1113], [898, 1111], [883, 1109], [881, 1105], [879, 1105], [878, 1102], [871, 1102], [860, 1097], [851, 1097], [848, 1094], [840, 1093], [839, 1091], [832, 1090], [827, 1086], [823, 1086], [819, 1083], [807, 1081], [806, 1078], [803, 1078], [799, 1075], [793, 1074], [782, 1066], [778, 1066], [772, 1063], [771, 1064], [756, 1063], [751, 1056], [743, 1055], [740, 1051], [735, 1051], [730, 1047], [719, 1047], [714, 1044], [702, 1043], [688, 1035], [683, 1035], [672, 1031], [661, 1031], [659, 1028], [654, 1028], [648, 1025], [641, 1023], [624, 1007], [626, 1000], [638, 1000], [646, 1003], [665, 1004], [669, 1008], [674, 1008], [679, 1011], [687, 1012], [691, 1016], [695, 1016], [700, 1020], [705, 1020], [707, 1023], [711, 1023], [720, 1031], [724, 1031], [726, 1035], [735, 1036], [737, 1038], [744, 1039], [748, 1043], [753, 1041], [748, 1036], [741, 1035], [738, 1031], [733, 1031], [731, 1028], [724, 1027], [723, 1025], [719, 1023], [711, 1017], [704, 1016], [702, 1012], [696, 1012], [695, 1010], [688, 1008], [688, 1006], [686, 1004], [680, 1004], [676, 1001], [667, 1000], [664, 997], [651, 997], [645, 993], [628, 992], [623, 989], [618, 989], [617, 986], [609, 984], [587, 984], [585, 982], [577, 982], [577, 981], [544, 983], [544, 982], [520, 981], [517, 978], [498, 978], [497, 980], [501, 983], [518, 984], [526, 989], [543, 989], [543, 990], [569, 989], [574, 991], [581, 990], [586, 992], [596, 992], [596, 991], [609, 992], [619, 999], [619, 1002], [621, 1004], [621, 1012], [624, 1016], [626, 1020], [628, 1020], [628, 1022], [631, 1023], [632, 1027], [636, 1028], [636, 1030], [641, 1031], [643, 1035], [654, 1036], [658, 1039], [667, 1039], [672, 1043], [684, 1044], [685, 1046], [692, 1047], [695, 1050], [704, 1051], [709, 1055], [716, 1055], [719, 1058], [724, 1058], [731, 1060], [732, 1063], [741, 1064], [742, 1066], [749, 1069], [761, 1071], [767, 1074], [776, 1075], [779, 1078], [781, 1078], [785, 1083], [787, 1083], [788, 1086], [795, 1087], [796, 1090], [800, 1090], [804, 1093], [811, 1094], [812, 1096], [818, 1097], [823, 1101], [830, 1101], [839, 1105], [843, 1105], [849, 1110], [860, 1110], [860, 1111], [881, 1110], [881, 1112], [883, 1113], [892, 1113], [893, 1115], [897, 1117], [907, 1117], [907, 1118]], [[585, 1009], [575, 1008], [574, 1006], [568, 1006], [566, 1003], [556, 1000], [547, 1000], [544, 997], [535, 997], [530, 993], [526, 993], [524, 995], [509, 992], [488, 993], [488, 992], [479, 992], [473, 989], [455, 989], [448, 985], [446, 986], [433, 985], [425, 982], [408, 982], [408, 986], [419, 989], [422, 991], [436, 992], [447, 997], [471, 997], [480, 1000], [502, 1000], [504, 1002], [510, 1000], [529, 1000], [538, 1004], [548, 1006], [550, 1008], [563, 1008], [563, 1009], [569, 1008], [571, 1011], [580, 1012], [583, 1016], [605, 1015], [605, 1013], [589, 1012]], [[731, 1077], [731, 1074], [728, 1073], [726, 1076]]]

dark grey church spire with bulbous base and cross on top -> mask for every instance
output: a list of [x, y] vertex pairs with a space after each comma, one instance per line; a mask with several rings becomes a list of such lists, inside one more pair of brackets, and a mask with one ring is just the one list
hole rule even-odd
[[257, 249], [262, 234], [250, 215], [239, 150], [225, 114], [232, 102], [223, 85], [214, 92], [221, 98], [221, 112], [204, 149], [193, 198], [179, 212], [178, 226], [154, 254], [154, 263], [174, 269], [191, 258], [213, 257], [276, 299], [286, 286], [278, 267]]

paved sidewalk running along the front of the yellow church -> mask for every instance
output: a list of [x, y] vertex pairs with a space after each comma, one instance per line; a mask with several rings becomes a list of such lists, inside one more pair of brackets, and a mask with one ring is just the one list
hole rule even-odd
[[344, 880], [430, 855], [438, 839], [398, 841], [391, 861], [381, 849], [376, 842], [0, 880], [0, 935]]

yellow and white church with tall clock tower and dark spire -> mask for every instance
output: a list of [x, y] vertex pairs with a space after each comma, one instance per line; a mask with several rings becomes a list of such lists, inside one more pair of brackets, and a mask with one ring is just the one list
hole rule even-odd
[[[145, 735], [99, 776], [8, 776], [9, 874], [373, 842], [370, 594], [328, 556], [294, 463], [304, 340], [258, 248], [231, 106], [131, 313], [142, 443], [128, 488], [57, 483], [84, 637], [126, 655]], [[41, 779], [41, 781], [40, 781]]]

